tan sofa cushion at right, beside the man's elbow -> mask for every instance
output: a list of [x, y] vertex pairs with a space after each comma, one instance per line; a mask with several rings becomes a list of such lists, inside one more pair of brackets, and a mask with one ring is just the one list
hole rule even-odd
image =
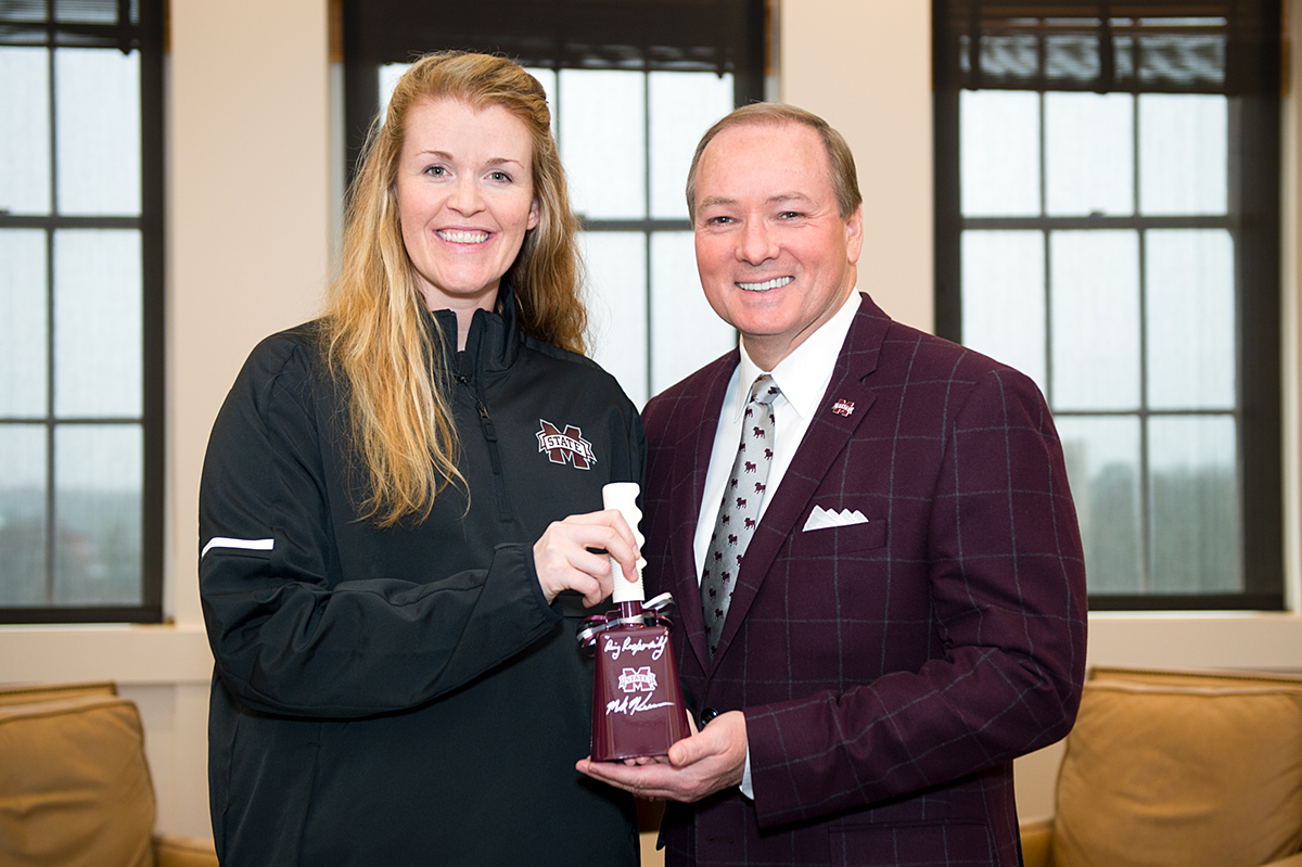
[[1055, 867], [1254, 867], [1299, 845], [1299, 685], [1086, 683]]

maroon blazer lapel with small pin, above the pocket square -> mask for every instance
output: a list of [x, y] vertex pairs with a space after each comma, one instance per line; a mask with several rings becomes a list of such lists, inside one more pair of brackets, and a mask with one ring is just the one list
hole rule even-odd
[[[773, 565], [783, 543], [792, 532], [798, 532], [796, 522], [809, 512], [810, 500], [827, 478], [837, 456], [845, 449], [868, 410], [875, 396], [865, 380], [876, 368], [891, 319], [863, 296], [845, 344], [837, 355], [836, 367], [827, 392], [810, 426], [805, 431], [799, 449], [786, 469], [773, 500], [764, 509], [755, 535], [742, 558], [737, 585], [728, 604], [728, 618], [715, 651], [717, 661], [741, 629], [759, 587]], [[702, 621], [704, 620], [703, 616]], [[704, 657], [703, 657], [704, 659]]]

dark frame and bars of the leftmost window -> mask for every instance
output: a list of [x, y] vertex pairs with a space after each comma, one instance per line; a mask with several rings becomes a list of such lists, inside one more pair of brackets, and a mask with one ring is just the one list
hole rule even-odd
[[[55, 268], [53, 238], [61, 229], [133, 229], [141, 234], [141, 415], [126, 418], [70, 417], [55, 410], [53, 376], [49, 378], [43, 417], [4, 417], [4, 424], [43, 424], [46, 428], [46, 574], [47, 603], [55, 586], [57, 532], [55, 532], [55, 431], [73, 424], [138, 424], [142, 431], [141, 479], [141, 601], [134, 605], [22, 605], [0, 607], [0, 624], [159, 624], [163, 611], [164, 473], [165, 473], [165, 307], [164, 307], [164, 34], [165, 0], [117, 0], [118, 23], [56, 21], [55, 0], [46, 0], [42, 22], [5, 21], [0, 46], [43, 47], [53, 68], [59, 48], [139, 51], [141, 72], [141, 213], [139, 216], [65, 216], [57, 213], [57, 137], [55, 91], [49, 95], [51, 213], [14, 215], [0, 211], [0, 230], [38, 229], [46, 236], [47, 365], [53, 363]], [[135, 13], [135, 22], [130, 16]], [[53, 78], [51, 78], [53, 82]], [[52, 370], [52, 367], [51, 367]]]

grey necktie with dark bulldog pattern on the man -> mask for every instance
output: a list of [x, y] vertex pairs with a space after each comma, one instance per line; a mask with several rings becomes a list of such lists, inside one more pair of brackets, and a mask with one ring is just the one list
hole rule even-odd
[[741, 422], [741, 444], [728, 487], [724, 488], [715, 534], [710, 536], [706, 565], [700, 571], [700, 607], [706, 614], [706, 638], [715, 655], [728, 617], [742, 555], [759, 523], [759, 504], [764, 500], [768, 467], [773, 463], [773, 401], [781, 391], [768, 374], [750, 387], [750, 400]]

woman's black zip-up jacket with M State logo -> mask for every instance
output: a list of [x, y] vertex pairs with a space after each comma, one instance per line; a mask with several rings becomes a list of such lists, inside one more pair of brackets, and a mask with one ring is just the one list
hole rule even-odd
[[596, 365], [525, 337], [505, 288], [499, 307], [448, 359], [469, 505], [449, 486], [422, 522], [358, 518], [316, 324], [259, 344], [227, 397], [199, 492], [227, 867], [638, 860], [631, 799], [574, 771], [587, 612], [546, 603], [533, 543], [641, 480], [642, 424]]

